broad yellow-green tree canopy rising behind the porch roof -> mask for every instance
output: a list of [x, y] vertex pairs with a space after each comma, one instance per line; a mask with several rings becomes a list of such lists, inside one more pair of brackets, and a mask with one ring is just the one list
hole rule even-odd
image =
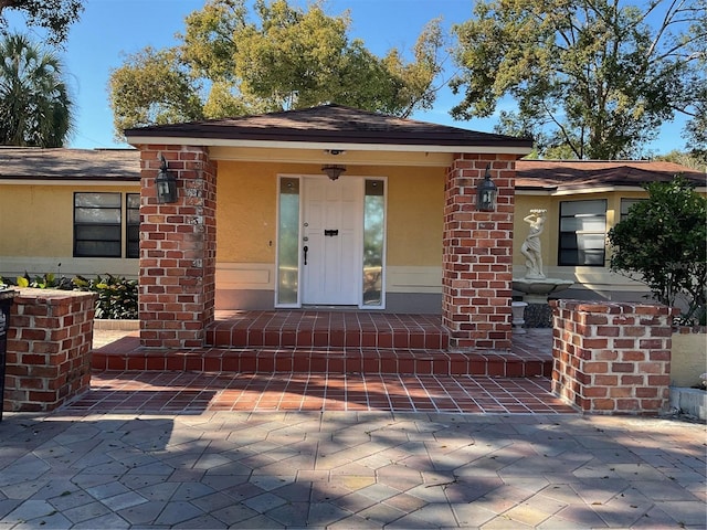
[[116, 135], [151, 124], [339, 103], [409, 116], [431, 108], [442, 71], [440, 21], [425, 26], [407, 62], [378, 57], [348, 36], [348, 12], [329, 15], [287, 0], [209, 0], [186, 19], [179, 44], [129, 55], [110, 74]]

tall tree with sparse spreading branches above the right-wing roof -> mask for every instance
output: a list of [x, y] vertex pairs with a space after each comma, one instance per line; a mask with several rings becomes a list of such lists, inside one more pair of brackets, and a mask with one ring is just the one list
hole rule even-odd
[[487, 117], [531, 134], [540, 153], [616, 159], [640, 153], [684, 113], [692, 149], [707, 139], [707, 0], [486, 0], [455, 26], [463, 100], [456, 118]]

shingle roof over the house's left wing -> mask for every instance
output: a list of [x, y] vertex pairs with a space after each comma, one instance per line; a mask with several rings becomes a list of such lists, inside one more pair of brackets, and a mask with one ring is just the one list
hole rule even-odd
[[0, 179], [140, 180], [136, 149], [0, 147]]

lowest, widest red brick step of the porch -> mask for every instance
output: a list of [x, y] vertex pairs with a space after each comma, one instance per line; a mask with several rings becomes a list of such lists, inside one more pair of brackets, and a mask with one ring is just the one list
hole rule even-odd
[[154, 350], [126, 337], [93, 351], [92, 367], [105, 370], [172, 370], [256, 373], [395, 373], [499, 378], [550, 377], [552, 360], [513, 352], [449, 352], [372, 348], [203, 348]]

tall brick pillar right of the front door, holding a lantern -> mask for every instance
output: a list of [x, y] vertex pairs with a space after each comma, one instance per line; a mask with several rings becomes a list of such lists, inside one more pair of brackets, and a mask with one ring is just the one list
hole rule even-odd
[[[490, 163], [495, 212], [476, 209]], [[450, 349], [506, 350], [511, 340], [515, 157], [458, 155], [445, 180], [442, 324]]]

